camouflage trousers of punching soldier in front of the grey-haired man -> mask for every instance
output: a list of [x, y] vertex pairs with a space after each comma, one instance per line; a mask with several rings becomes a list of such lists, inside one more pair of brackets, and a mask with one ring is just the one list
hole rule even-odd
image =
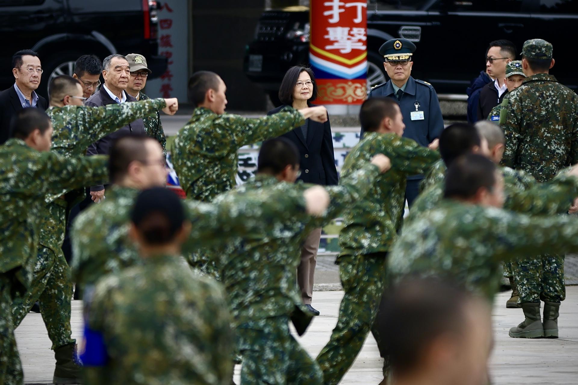
[[30, 290], [12, 302], [14, 328], [20, 325], [36, 301], [40, 304], [52, 349], [75, 343], [76, 339], [71, 337], [71, 270], [61, 249], [54, 253], [39, 245]]

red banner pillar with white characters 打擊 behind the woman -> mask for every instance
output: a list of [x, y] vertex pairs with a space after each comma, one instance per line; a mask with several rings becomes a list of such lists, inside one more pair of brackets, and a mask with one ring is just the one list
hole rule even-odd
[[361, 104], [366, 96], [367, 2], [310, 2], [309, 61], [321, 104]]

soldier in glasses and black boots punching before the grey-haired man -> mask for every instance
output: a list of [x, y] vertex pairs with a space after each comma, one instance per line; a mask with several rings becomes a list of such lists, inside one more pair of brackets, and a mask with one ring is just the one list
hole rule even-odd
[[[81, 156], [86, 148], [128, 122], [176, 103], [176, 99], [155, 99], [106, 107], [83, 107], [83, 89], [76, 79], [62, 75], [50, 83], [50, 107], [47, 114], [54, 127], [51, 151], [66, 158]], [[65, 195], [66, 194], [66, 195]], [[31, 290], [12, 303], [14, 327], [18, 327], [34, 302], [39, 301], [42, 318], [52, 341], [58, 362], [54, 381], [74, 379], [78, 375], [72, 356], [75, 339], [71, 337], [72, 282], [62, 252], [68, 208], [83, 197], [83, 190], [63, 190], [46, 196], [40, 215], [38, 261]]]

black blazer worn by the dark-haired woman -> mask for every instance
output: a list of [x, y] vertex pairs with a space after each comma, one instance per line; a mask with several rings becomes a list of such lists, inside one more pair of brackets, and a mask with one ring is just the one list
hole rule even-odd
[[[310, 107], [314, 104], [309, 104]], [[281, 111], [280, 106], [269, 111], [272, 115]], [[333, 151], [333, 136], [329, 120], [325, 123], [314, 122], [309, 119], [307, 137], [303, 137], [301, 127], [281, 135], [291, 140], [299, 149], [301, 176], [299, 180], [318, 185], [336, 185], [339, 182], [335, 167], [335, 153]]]

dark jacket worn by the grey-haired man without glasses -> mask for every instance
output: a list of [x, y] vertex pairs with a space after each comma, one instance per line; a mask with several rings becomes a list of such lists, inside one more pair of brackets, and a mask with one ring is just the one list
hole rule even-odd
[[[124, 91], [124, 93], [127, 95], [127, 101], [125, 103], [136, 102], [136, 99], [133, 98], [131, 95], [129, 95], [128, 92]], [[110, 95], [108, 94], [108, 92], [106, 92], [106, 89], [104, 89], [104, 85], [101, 85], [101, 88], [99, 88], [97, 92], [95, 92], [94, 94], [92, 94], [90, 98], [88, 98], [85, 105], [90, 107], [101, 107], [106, 106], [106, 104], [112, 103], [116, 102], [112, 98], [110, 98]], [[88, 147], [86, 154], [108, 155], [114, 139], [124, 136], [125, 134], [135, 134], [135, 135], [146, 134], [143, 119], [136, 119], [134, 122], [131, 122], [130, 124], [116, 130], [112, 134], [108, 134], [107, 136], [103, 137], [96, 143], [91, 144]], [[104, 188], [105, 188], [104, 186], [91, 186], [90, 190], [101, 191]]]

